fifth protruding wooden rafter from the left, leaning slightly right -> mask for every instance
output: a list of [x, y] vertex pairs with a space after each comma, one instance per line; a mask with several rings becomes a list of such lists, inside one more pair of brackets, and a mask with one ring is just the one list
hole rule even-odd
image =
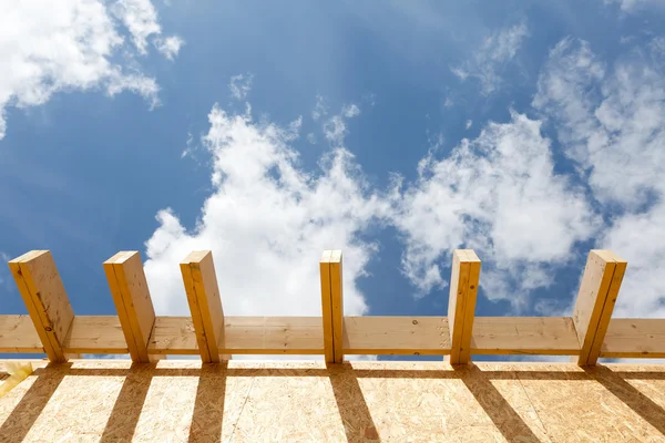
[[471, 361], [471, 336], [475, 317], [475, 298], [480, 279], [480, 259], [472, 249], [452, 253], [448, 322], [450, 326], [450, 364]]

